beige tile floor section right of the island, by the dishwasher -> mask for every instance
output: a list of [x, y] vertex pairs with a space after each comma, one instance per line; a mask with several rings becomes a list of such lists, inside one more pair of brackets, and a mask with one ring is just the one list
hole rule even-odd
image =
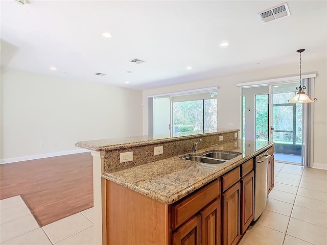
[[327, 244], [327, 170], [275, 162], [274, 189], [240, 245]]

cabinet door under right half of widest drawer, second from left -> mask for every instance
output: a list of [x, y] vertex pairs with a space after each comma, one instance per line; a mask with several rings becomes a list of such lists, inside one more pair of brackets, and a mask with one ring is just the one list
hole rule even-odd
[[202, 245], [220, 244], [220, 199], [201, 211]]

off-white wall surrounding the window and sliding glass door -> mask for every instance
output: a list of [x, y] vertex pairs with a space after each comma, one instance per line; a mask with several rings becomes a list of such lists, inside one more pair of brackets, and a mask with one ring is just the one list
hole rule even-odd
[[[317, 73], [314, 82], [314, 166], [327, 169], [327, 61], [302, 60], [302, 74]], [[242, 74], [216, 77], [207, 80], [178, 84], [143, 91], [143, 133], [147, 132], [147, 96], [205, 87], [219, 86], [218, 89], [218, 127], [241, 129], [241, 89], [238, 83], [299, 75], [299, 64], [292, 63], [269, 69], [258, 69]]]

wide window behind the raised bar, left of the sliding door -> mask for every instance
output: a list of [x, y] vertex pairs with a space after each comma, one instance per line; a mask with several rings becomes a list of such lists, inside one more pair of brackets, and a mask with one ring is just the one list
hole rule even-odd
[[217, 87], [148, 97], [149, 134], [217, 132]]

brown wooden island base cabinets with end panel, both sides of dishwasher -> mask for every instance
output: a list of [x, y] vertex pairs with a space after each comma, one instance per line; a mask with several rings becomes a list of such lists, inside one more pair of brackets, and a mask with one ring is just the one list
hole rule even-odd
[[[268, 193], [273, 151], [268, 149]], [[173, 204], [106, 180], [106, 244], [236, 245], [254, 216], [253, 158]]]

